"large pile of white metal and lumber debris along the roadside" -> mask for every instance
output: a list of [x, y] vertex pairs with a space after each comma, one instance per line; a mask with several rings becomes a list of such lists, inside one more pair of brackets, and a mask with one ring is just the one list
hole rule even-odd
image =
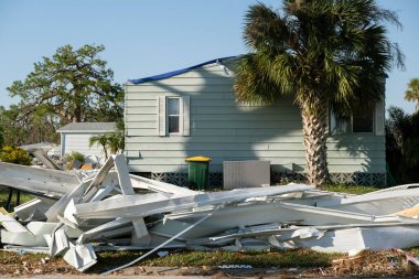
[[0, 184], [39, 196], [14, 215], [0, 211], [3, 248], [62, 255], [79, 271], [98, 250], [150, 249], [127, 267], [162, 247], [355, 255], [419, 246], [417, 184], [365, 195], [292, 183], [197, 192], [129, 174], [122, 154], [84, 179], [1, 163]]

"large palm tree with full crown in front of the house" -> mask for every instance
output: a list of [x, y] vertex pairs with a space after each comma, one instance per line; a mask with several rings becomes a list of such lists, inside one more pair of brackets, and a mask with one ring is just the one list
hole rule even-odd
[[329, 109], [345, 118], [384, 98], [386, 72], [394, 63], [404, 64], [383, 23], [400, 23], [374, 0], [282, 2], [282, 13], [264, 3], [250, 6], [246, 13], [244, 41], [250, 53], [238, 64], [235, 95], [240, 103], [265, 105], [294, 96], [302, 116], [308, 180], [320, 185], [329, 175]]

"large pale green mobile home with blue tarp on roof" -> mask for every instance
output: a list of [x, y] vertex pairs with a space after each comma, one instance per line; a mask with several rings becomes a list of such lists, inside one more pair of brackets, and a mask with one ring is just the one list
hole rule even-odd
[[[187, 157], [211, 157], [211, 184], [223, 161], [269, 160], [273, 182], [305, 170], [300, 109], [292, 97], [273, 106], [236, 104], [235, 62], [219, 58], [125, 85], [126, 155], [131, 172], [183, 184]], [[325, 104], [326, 105], [326, 104]], [[384, 104], [336, 129], [330, 117], [327, 160], [337, 183], [386, 181]], [[215, 181], [217, 180], [218, 181]]]

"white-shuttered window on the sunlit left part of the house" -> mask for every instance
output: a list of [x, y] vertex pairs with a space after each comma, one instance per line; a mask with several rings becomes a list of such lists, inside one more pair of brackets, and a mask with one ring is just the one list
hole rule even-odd
[[190, 136], [190, 96], [159, 96], [158, 135]]

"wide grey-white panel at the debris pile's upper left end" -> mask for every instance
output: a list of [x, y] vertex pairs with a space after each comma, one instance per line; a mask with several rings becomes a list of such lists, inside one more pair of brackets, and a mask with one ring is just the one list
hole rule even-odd
[[61, 197], [79, 184], [76, 175], [0, 162], [0, 184], [23, 192]]

